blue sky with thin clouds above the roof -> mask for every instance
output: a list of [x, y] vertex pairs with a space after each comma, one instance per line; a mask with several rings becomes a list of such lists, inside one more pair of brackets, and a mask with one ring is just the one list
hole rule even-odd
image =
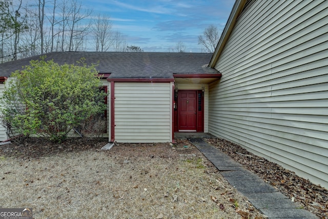
[[112, 29], [128, 45], [145, 52], [169, 52], [178, 42], [186, 52], [202, 52], [198, 36], [209, 25], [220, 31], [227, 23], [234, 0], [83, 0], [84, 7], [111, 16]]

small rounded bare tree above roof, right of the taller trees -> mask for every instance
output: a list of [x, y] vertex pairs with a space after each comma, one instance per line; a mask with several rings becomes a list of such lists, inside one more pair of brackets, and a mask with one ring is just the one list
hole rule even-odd
[[98, 14], [94, 21], [94, 42], [97, 52], [106, 52], [113, 44], [112, 22], [109, 15]]

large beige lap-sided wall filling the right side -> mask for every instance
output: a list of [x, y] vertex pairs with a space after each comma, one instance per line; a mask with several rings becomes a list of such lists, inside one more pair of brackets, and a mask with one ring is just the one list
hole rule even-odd
[[209, 132], [328, 188], [328, 1], [256, 1], [210, 85]]

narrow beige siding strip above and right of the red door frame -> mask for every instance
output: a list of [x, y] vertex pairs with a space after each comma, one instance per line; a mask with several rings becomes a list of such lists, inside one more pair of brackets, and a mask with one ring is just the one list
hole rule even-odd
[[177, 84], [179, 90], [201, 90], [204, 87], [204, 133], [209, 132], [209, 86], [204, 84]]

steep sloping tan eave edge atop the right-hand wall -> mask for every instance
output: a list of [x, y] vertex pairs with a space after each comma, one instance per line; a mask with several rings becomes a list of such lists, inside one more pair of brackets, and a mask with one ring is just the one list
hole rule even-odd
[[246, 2], [247, 2], [247, 0], [236, 0], [235, 4], [234, 4], [234, 6], [231, 10], [231, 13], [230, 13], [230, 16], [228, 18], [227, 24], [226, 24], [226, 26], [224, 27], [224, 29], [222, 31], [219, 42], [218, 42], [218, 44], [215, 48], [215, 51], [212, 55], [209, 67], [211, 67], [211, 68], [215, 67], [215, 64], [218, 61], [219, 56], [220, 56], [224, 46], [226, 45], [226, 43], [228, 41], [228, 38], [229, 38], [229, 36], [230, 36], [230, 34], [231, 34], [235, 24], [236, 24], [237, 17], [241, 13], [241, 11], [242, 11], [243, 7], [245, 6]]

